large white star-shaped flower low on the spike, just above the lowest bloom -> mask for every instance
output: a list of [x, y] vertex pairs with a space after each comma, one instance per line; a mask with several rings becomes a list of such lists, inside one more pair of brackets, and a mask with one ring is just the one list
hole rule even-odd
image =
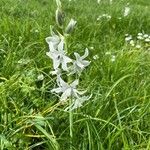
[[79, 95], [85, 93], [85, 91], [79, 92], [76, 87], [79, 84], [79, 80], [75, 80], [71, 84], [66, 83], [61, 77], [57, 79], [58, 88], [51, 90], [51, 92], [62, 93], [60, 101], [65, 101], [68, 98], [79, 98]]

